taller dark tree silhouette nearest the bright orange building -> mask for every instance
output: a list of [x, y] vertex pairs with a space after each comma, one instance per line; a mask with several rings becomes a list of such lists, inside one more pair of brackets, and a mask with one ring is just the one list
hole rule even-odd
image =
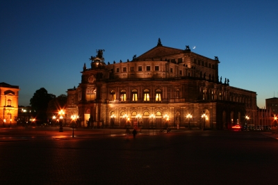
[[30, 105], [33, 111], [35, 111], [35, 117], [38, 123], [42, 124], [47, 122], [47, 107], [49, 101], [56, 96], [47, 93], [45, 88], [36, 90], [33, 97], [30, 99]]

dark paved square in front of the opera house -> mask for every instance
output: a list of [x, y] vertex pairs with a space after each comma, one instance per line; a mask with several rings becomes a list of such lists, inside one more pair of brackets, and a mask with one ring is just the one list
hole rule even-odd
[[277, 184], [278, 140], [260, 132], [64, 130], [0, 129], [1, 184]]

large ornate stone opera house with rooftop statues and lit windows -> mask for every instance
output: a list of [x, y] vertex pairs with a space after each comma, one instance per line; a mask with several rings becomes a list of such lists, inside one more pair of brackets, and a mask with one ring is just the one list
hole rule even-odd
[[255, 116], [256, 93], [219, 79], [218, 57], [160, 40], [132, 61], [106, 65], [103, 51], [90, 58], [90, 68], [84, 64], [79, 86], [67, 90], [67, 118], [78, 112], [82, 127], [227, 129]]

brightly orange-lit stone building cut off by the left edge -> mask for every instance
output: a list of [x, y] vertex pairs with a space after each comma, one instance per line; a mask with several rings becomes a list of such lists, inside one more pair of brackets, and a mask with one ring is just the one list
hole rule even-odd
[[2, 126], [17, 124], [19, 86], [0, 83], [0, 123]]

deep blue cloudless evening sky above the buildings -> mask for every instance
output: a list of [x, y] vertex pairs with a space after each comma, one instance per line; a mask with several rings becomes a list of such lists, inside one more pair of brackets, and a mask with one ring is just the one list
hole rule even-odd
[[[278, 1], [0, 1], [0, 82], [56, 96], [81, 82], [83, 64], [105, 49], [117, 63], [157, 45], [220, 60], [230, 86], [277, 97]], [[196, 46], [195, 49], [193, 47]]]

